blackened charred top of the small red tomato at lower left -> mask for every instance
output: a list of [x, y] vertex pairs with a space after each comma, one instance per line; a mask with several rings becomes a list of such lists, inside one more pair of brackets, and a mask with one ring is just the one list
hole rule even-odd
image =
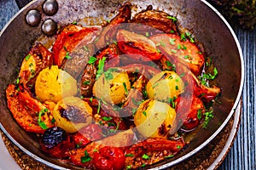
[[57, 144], [61, 144], [63, 141], [66, 141], [68, 134], [61, 127], [51, 127], [47, 129], [42, 137], [42, 144], [47, 149], [52, 149]]

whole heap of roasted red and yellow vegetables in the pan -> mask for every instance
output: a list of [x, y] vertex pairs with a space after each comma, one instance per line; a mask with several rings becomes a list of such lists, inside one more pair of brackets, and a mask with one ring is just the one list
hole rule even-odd
[[[125, 3], [108, 25], [63, 26], [23, 59], [6, 96], [42, 150], [75, 166], [136, 169], [169, 159], [207, 128], [221, 90], [203, 48], [177, 18]], [[210, 68], [210, 69], [209, 69]], [[211, 69], [212, 68], [212, 69]]]

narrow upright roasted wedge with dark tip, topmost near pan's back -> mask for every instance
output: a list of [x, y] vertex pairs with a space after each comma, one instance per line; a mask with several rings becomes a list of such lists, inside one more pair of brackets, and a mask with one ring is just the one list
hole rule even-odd
[[108, 26], [102, 28], [102, 31], [97, 39], [96, 47], [98, 49], [105, 48], [106, 44], [112, 43], [115, 40], [116, 32], [119, 24], [127, 23], [131, 20], [131, 4], [125, 3], [112, 20], [109, 21]]

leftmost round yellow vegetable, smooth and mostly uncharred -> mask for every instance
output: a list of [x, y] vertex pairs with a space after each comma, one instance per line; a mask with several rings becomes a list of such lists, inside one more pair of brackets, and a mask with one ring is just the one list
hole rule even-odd
[[35, 83], [35, 92], [40, 101], [57, 103], [62, 98], [77, 94], [77, 81], [57, 65], [41, 71]]

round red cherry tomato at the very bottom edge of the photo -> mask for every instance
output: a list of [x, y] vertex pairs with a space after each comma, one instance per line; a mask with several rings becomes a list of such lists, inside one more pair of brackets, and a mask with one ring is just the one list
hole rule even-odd
[[93, 164], [96, 169], [118, 170], [125, 167], [125, 154], [119, 148], [105, 146], [94, 154]]

